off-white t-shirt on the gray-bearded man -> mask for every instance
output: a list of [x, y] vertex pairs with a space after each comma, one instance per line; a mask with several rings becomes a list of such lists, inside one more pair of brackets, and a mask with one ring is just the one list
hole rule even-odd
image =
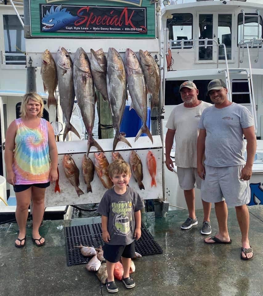
[[203, 110], [211, 105], [201, 101], [196, 107], [186, 108], [182, 103], [172, 110], [165, 126], [176, 130], [175, 164], [177, 167], [197, 167], [198, 123]]

